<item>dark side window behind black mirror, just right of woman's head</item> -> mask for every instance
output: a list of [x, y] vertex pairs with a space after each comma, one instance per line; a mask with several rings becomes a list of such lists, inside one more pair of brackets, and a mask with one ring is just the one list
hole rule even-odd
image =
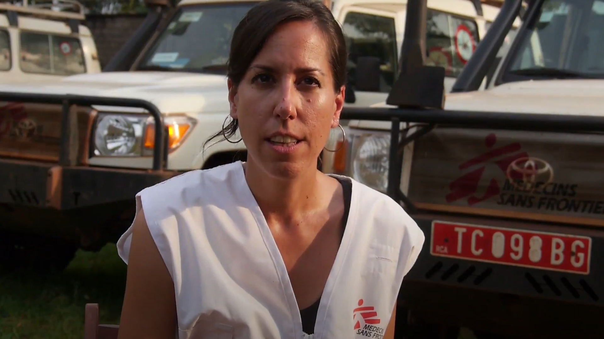
[[398, 67], [394, 18], [351, 11], [346, 14], [342, 28], [349, 53], [349, 85], [355, 86], [358, 57], [377, 57], [381, 60], [379, 92], [390, 92]]

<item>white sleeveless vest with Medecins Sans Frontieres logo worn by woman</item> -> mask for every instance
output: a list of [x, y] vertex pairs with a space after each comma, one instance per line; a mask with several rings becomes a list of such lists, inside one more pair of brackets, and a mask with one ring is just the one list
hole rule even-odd
[[[352, 180], [347, 178], [348, 180]], [[387, 195], [352, 180], [348, 223], [304, 334], [288, 272], [242, 162], [143, 189], [155, 244], [174, 281], [179, 339], [381, 338], [425, 237]], [[117, 242], [128, 261], [131, 228]]]

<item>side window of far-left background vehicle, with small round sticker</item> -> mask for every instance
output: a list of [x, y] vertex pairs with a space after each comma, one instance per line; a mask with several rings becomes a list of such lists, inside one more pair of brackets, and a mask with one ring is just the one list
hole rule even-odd
[[72, 75], [86, 72], [80, 40], [43, 33], [21, 33], [21, 70], [26, 73]]

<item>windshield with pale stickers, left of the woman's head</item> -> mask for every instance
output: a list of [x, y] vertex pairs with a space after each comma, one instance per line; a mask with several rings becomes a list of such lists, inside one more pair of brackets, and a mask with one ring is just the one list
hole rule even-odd
[[147, 51], [138, 70], [224, 71], [237, 24], [256, 2], [188, 5]]

